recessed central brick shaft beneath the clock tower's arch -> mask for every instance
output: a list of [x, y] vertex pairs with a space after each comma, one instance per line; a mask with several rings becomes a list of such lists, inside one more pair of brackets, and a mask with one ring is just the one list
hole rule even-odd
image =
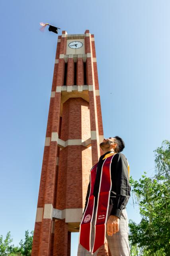
[[89, 170], [92, 168], [91, 149], [82, 145], [91, 136], [89, 119], [87, 101], [69, 98], [64, 102], [61, 140], [67, 142], [68, 146], [60, 150], [56, 207], [60, 210], [69, 209], [70, 212], [70, 209], [75, 209], [74, 215], [79, 215], [78, 209], [83, 208]]

